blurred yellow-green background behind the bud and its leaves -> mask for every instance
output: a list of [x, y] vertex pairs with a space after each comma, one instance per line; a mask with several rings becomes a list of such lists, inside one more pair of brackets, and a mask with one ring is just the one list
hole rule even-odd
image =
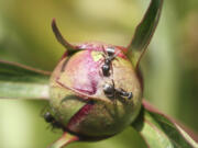
[[[0, 0], [0, 59], [53, 70], [64, 48], [51, 21], [70, 43], [127, 46], [150, 0]], [[198, 1], [165, 0], [160, 25], [143, 57], [144, 96], [198, 132]], [[0, 100], [0, 148], [45, 148], [59, 136], [40, 116], [46, 102]], [[143, 147], [127, 128], [113, 138], [68, 148]]]

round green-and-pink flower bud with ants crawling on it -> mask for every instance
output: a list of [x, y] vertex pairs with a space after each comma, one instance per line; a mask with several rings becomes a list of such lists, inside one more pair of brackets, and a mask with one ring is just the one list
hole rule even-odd
[[123, 47], [97, 43], [75, 47], [78, 52], [64, 56], [51, 77], [52, 114], [64, 130], [82, 138], [113, 136], [141, 109], [136, 70]]

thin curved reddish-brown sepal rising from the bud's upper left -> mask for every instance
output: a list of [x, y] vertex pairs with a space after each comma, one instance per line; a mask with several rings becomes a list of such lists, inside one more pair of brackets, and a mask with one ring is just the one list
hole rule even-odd
[[53, 29], [53, 32], [54, 32], [54, 35], [56, 37], [56, 39], [67, 49], [67, 53], [68, 55], [76, 52], [77, 50], [77, 47], [69, 44], [62, 35], [62, 33], [59, 32], [57, 25], [56, 25], [56, 20], [53, 19], [52, 21], [52, 29]]

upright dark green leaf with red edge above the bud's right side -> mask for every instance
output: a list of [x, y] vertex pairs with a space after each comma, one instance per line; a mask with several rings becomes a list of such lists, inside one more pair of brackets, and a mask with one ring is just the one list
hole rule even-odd
[[133, 39], [128, 46], [127, 53], [134, 67], [139, 65], [139, 61], [155, 32], [161, 16], [162, 5], [163, 0], [152, 0], [143, 20], [135, 29]]

